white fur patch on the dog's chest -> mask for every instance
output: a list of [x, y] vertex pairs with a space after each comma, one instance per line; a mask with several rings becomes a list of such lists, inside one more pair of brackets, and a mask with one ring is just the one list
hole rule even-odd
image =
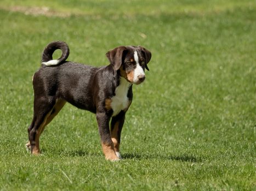
[[116, 116], [120, 113], [121, 110], [124, 110], [128, 107], [129, 99], [127, 97], [127, 93], [130, 87], [130, 83], [120, 77], [120, 84], [116, 87], [115, 96], [111, 98], [111, 108], [113, 110], [112, 116]]

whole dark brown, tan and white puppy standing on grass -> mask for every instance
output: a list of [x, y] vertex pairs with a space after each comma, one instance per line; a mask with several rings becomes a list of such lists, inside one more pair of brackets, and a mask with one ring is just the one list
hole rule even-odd
[[[62, 55], [53, 59], [57, 49]], [[121, 130], [132, 103], [132, 86], [145, 80], [151, 52], [141, 46], [116, 47], [106, 53], [110, 64], [98, 68], [66, 61], [68, 56], [69, 47], [62, 41], [48, 44], [43, 51], [42, 67], [33, 75], [34, 113], [27, 148], [40, 153], [41, 133], [69, 102], [96, 114], [105, 158], [121, 159]]]

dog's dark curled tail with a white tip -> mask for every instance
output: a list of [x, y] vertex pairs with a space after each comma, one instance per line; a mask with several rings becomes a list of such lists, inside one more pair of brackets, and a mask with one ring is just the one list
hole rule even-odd
[[[57, 49], [62, 51], [59, 59], [53, 59], [53, 52]], [[48, 44], [42, 53], [42, 64], [44, 65], [57, 65], [64, 62], [69, 57], [69, 46], [63, 41], [54, 41]]]

